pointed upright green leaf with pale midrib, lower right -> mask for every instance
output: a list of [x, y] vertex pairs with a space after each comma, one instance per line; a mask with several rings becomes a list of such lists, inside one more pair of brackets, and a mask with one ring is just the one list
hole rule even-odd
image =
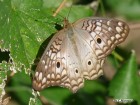
[[132, 51], [128, 61], [123, 64], [111, 81], [109, 92], [114, 99], [133, 99], [138, 101], [138, 75], [135, 52]]

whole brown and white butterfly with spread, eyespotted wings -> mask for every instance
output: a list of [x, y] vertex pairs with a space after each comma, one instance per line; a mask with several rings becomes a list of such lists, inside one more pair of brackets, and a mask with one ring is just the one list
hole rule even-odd
[[69, 88], [73, 93], [84, 86], [84, 79], [103, 75], [105, 58], [129, 33], [129, 26], [117, 19], [87, 17], [66, 21], [45, 49], [33, 77], [33, 88]]

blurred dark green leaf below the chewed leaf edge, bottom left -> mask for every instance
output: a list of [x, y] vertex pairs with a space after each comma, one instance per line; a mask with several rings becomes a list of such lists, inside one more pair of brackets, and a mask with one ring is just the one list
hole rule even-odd
[[20, 103], [27, 105], [30, 97], [32, 96], [31, 79], [25, 71], [14, 74], [9, 83], [9, 87], [6, 87], [6, 91], [11, 93], [12, 97]]

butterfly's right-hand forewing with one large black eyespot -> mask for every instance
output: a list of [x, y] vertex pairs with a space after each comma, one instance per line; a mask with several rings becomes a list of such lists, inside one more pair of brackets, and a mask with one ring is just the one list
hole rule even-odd
[[[86, 18], [74, 23], [75, 27], [86, 30], [92, 37], [87, 40], [98, 58], [106, 57], [129, 33], [125, 22], [107, 18]], [[89, 38], [89, 37], [88, 37]]]

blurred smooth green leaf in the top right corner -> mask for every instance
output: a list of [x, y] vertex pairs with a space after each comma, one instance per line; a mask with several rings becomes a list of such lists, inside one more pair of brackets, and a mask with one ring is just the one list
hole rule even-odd
[[140, 2], [139, 0], [106, 0], [106, 4], [111, 10], [120, 15], [124, 15], [129, 19], [140, 19]]

